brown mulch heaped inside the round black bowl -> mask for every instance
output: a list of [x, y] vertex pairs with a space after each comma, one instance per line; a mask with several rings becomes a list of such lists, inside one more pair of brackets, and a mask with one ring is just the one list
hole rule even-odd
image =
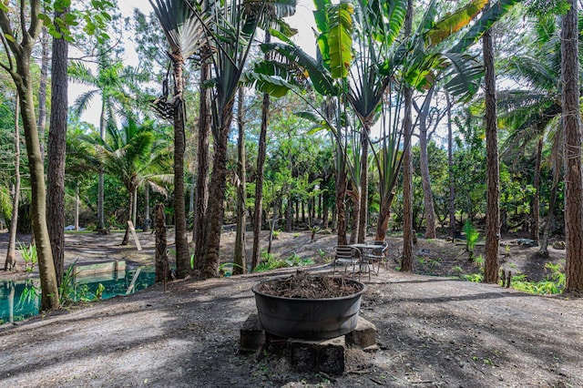
[[331, 299], [363, 291], [363, 284], [344, 278], [313, 276], [308, 272], [298, 271], [288, 278], [262, 282], [256, 290], [282, 298]]

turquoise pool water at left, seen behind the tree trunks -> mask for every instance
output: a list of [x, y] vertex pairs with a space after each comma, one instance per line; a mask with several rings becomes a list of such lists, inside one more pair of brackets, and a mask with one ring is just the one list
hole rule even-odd
[[[120, 271], [120, 275], [118, 277], [114, 273], [114, 276], [107, 278], [101, 276], [77, 279], [70, 287], [69, 298], [74, 301], [94, 301], [98, 299], [97, 293], [101, 293], [101, 299], [128, 295], [152, 286], [156, 277], [151, 268]], [[100, 284], [102, 287], [99, 286]], [[0, 281], [0, 324], [30, 318], [38, 314], [39, 307], [40, 281], [38, 279]]]

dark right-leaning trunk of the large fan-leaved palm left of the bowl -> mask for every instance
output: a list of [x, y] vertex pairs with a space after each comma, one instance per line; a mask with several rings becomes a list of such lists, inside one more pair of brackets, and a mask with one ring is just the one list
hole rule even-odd
[[209, 186], [209, 210], [205, 221], [205, 243], [202, 251], [204, 260], [203, 276], [215, 278], [219, 275], [220, 231], [224, 217], [225, 189], [227, 186], [227, 143], [230, 122], [233, 116], [234, 98], [231, 98], [220, 112], [219, 136], [215, 139], [215, 158]]

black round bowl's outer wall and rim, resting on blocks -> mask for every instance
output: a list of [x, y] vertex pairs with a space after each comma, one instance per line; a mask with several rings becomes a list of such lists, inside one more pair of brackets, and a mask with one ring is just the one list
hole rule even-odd
[[268, 295], [258, 291], [261, 283], [255, 284], [251, 290], [261, 326], [280, 337], [311, 341], [353, 332], [367, 287], [360, 281], [346, 282], [359, 284], [361, 291], [340, 298], [300, 299]]

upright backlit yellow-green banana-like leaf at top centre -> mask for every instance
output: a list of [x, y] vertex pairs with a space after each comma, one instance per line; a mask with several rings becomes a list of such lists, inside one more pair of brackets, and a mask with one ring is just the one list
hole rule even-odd
[[330, 68], [332, 78], [348, 76], [353, 60], [353, 5], [341, 3], [328, 8], [330, 19], [330, 33], [328, 46], [330, 47]]

